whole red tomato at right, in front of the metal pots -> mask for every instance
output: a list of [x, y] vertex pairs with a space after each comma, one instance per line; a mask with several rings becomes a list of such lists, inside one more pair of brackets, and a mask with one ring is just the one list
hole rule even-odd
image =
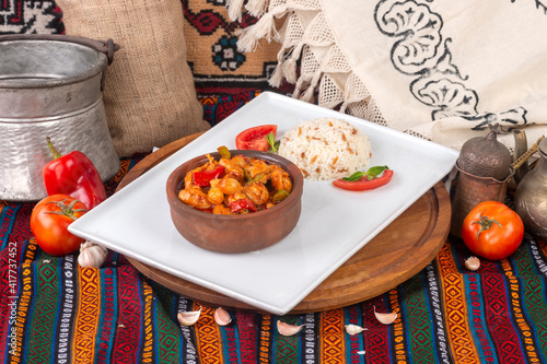
[[523, 236], [521, 216], [497, 201], [478, 203], [462, 227], [462, 237], [469, 250], [490, 260], [505, 259], [515, 253]]

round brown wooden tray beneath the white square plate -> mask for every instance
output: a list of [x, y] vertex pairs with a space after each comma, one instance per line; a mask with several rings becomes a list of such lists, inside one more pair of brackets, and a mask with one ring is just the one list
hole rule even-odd
[[[197, 137], [199, 133], [174, 141], [149, 154], [128, 172], [117, 190]], [[312, 291], [291, 314], [322, 312], [356, 304], [403, 283], [437, 256], [449, 235], [450, 221], [449, 193], [444, 185], [439, 183]], [[187, 298], [216, 307], [260, 312], [136, 259], [128, 259], [141, 273]]]

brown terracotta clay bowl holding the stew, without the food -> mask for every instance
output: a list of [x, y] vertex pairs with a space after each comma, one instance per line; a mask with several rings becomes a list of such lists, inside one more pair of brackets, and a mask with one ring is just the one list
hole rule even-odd
[[[171, 218], [181, 233], [191, 244], [217, 253], [247, 253], [267, 248], [289, 235], [300, 219], [302, 208], [303, 176], [287, 158], [257, 151], [230, 151], [232, 155], [256, 157], [277, 164], [289, 173], [292, 191], [287, 199], [270, 209], [243, 214], [217, 215], [196, 210], [178, 199], [186, 174], [207, 163], [207, 155], [197, 156], [172, 172], [167, 179], [167, 200]], [[214, 160], [220, 153], [209, 153]]]

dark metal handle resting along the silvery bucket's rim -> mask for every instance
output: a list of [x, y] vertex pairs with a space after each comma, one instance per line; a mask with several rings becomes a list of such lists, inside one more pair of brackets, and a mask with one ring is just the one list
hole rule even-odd
[[119, 45], [115, 44], [112, 39], [106, 42], [95, 40], [85, 37], [63, 34], [3, 34], [0, 35], [0, 42], [7, 40], [55, 40], [55, 42], [70, 42], [80, 44], [105, 54], [108, 58], [108, 64], [114, 60], [114, 52], [119, 49]]

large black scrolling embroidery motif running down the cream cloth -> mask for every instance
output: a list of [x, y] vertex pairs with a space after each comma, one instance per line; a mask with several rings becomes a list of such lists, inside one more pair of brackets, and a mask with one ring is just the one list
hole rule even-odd
[[462, 75], [453, 63], [452, 38], [443, 39], [443, 20], [428, 3], [384, 0], [377, 3], [374, 16], [380, 32], [395, 40], [391, 49], [393, 67], [415, 78], [409, 92], [432, 109], [432, 121], [461, 117], [473, 122], [472, 130], [485, 130], [488, 124], [498, 121], [526, 124], [523, 107], [502, 113], [478, 111], [479, 95], [466, 85], [468, 77]]

